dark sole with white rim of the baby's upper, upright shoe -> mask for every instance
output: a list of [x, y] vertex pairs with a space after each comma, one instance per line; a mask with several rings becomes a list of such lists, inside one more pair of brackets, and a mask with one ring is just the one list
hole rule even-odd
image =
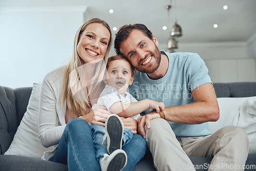
[[108, 152], [112, 154], [116, 149], [122, 148], [122, 138], [123, 138], [123, 124], [122, 120], [116, 116], [112, 115], [108, 118], [105, 124], [106, 133], [108, 135]]

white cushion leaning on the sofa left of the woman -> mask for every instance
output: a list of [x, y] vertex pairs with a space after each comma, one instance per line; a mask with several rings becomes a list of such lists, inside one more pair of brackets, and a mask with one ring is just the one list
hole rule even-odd
[[27, 112], [20, 122], [13, 141], [5, 155], [19, 155], [40, 159], [44, 152], [53, 147], [45, 148], [38, 136], [38, 108], [41, 84], [34, 83]]

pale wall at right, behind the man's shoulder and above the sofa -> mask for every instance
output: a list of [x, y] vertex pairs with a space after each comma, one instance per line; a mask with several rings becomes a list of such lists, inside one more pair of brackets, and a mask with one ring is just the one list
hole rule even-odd
[[[247, 42], [179, 43], [178, 46], [176, 52], [195, 52], [201, 56], [212, 82], [256, 81], [255, 39]], [[158, 47], [166, 49], [165, 44]]]

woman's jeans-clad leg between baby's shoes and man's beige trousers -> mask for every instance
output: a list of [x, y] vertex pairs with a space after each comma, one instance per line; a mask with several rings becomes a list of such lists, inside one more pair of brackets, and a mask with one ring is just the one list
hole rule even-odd
[[131, 171], [146, 153], [146, 140], [138, 134], [133, 135], [133, 139], [124, 145], [122, 149], [127, 155], [127, 164], [122, 171]]

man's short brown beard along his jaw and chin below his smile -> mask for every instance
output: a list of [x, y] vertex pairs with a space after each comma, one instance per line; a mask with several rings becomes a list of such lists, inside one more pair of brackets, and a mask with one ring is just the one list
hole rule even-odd
[[153, 60], [153, 57], [156, 59], [154, 65], [152, 67], [147, 67], [147, 68], [138, 68], [138, 67], [136, 67], [136, 69], [138, 71], [143, 72], [143, 73], [147, 73], [147, 74], [152, 74], [153, 72], [155, 72], [158, 69], [158, 67], [160, 66], [160, 61], [161, 61], [161, 53], [160, 53], [160, 51], [159, 51], [159, 49], [157, 48], [156, 45], [155, 45], [154, 52], [151, 55], [152, 55], [151, 60]]

